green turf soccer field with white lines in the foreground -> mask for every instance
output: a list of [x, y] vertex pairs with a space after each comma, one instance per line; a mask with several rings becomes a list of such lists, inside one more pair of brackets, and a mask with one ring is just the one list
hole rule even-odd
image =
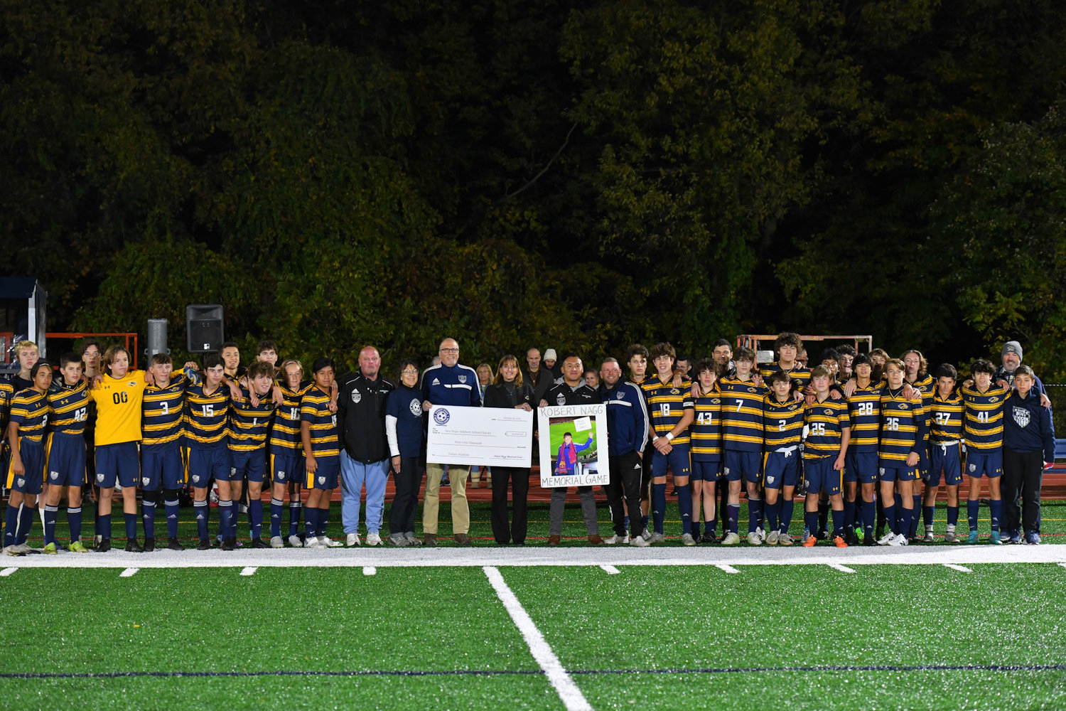
[[1063, 546], [2, 563], [5, 708], [1066, 707]]

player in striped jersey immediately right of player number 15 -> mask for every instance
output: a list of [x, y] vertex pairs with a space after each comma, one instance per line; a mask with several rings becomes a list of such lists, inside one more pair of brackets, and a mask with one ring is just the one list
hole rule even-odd
[[[252, 526], [252, 547], [268, 548], [262, 539], [263, 499], [262, 486], [266, 469], [266, 435], [274, 416], [274, 402], [266, 395], [273, 386], [274, 366], [262, 360], [248, 368], [247, 387], [230, 403], [229, 436], [229, 489], [233, 501], [240, 500], [245, 478], [248, 481], [248, 519]], [[255, 393], [258, 404], [252, 404]], [[221, 491], [221, 487], [220, 487]], [[223, 535], [225, 537], [225, 534]], [[230, 517], [230, 543], [236, 547], [237, 517]]]

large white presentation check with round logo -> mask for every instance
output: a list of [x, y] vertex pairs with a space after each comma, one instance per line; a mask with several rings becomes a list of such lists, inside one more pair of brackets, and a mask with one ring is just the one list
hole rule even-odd
[[430, 408], [425, 460], [529, 467], [533, 460], [533, 413], [512, 407]]

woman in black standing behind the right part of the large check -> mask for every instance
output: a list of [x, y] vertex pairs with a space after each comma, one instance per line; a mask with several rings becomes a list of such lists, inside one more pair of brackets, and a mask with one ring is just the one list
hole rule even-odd
[[[492, 384], [485, 388], [485, 407], [514, 407], [533, 410], [533, 388], [522, 382], [522, 371], [518, 358], [505, 355], [500, 358]], [[494, 467], [492, 486], [492, 537], [499, 546], [513, 543], [526, 544], [526, 529], [529, 520], [527, 498], [530, 490], [529, 467]], [[512, 487], [514, 514], [507, 520], [507, 481]]]

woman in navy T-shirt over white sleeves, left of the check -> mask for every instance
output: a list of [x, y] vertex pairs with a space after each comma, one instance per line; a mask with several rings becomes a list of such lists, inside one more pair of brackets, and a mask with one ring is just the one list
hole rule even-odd
[[425, 467], [422, 464], [422, 391], [418, 387], [418, 363], [400, 362], [397, 389], [385, 402], [385, 435], [392, 456], [392, 481], [395, 496], [389, 512], [389, 543], [393, 546], [421, 546], [415, 537], [418, 513], [418, 488]]

